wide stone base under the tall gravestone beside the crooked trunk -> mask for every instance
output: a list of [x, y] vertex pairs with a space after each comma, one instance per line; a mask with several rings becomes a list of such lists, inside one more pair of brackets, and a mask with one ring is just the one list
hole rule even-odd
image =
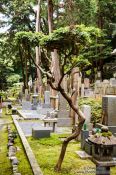
[[72, 126], [72, 119], [71, 118], [58, 118], [57, 126], [59, 127]]

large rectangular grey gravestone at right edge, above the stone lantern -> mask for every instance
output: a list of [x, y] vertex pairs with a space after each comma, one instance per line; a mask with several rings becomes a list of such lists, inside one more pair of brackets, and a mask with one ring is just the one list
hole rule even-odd
[[116, 126], [116, 96], [106, 95], [102, 97], [103, 124]]

